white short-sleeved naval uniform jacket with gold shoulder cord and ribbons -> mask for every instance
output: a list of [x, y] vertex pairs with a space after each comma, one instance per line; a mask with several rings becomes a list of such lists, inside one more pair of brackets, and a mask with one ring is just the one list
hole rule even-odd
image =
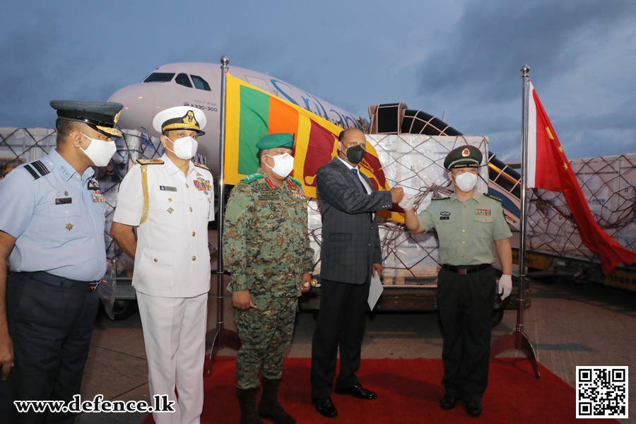
[[146, 165], [149, 210], [143, 214], [141, 166], [119, 187], [113, 221], [139, 225], [133, 285], [151, 296], [191, 298], [210, 290], [208, 221], [214, 219], [212, 174], [189, 163], [187, 177], [163, 155]]

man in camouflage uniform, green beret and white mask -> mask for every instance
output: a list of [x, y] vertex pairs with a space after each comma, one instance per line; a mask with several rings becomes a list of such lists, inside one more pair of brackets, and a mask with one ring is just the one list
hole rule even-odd
[[293, 334], [298, 297], [309, 290], [314, 250], [307, 235], [307, 204], [293, 170], [291, 134], [269, 134], [258, 143], [259, 173], [230, 194], [223, 254], [232, 274], [228, 290], [242, 346], [236, 358], [241, 423], [261, 423], [255, 396], [261, 368], [258, 415], [295, 423], [278, 403], [283, 351]]

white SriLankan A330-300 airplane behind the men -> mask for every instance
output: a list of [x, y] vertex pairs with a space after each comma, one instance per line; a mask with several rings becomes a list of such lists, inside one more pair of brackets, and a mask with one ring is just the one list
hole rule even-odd
[[[369, 125], [367, 119], [347, 112], [281, 79], [237, 66], [230, 66], [230, 74], [278, 98], [304, 107], [342, 128], [358, 128], [364, 131], [364, 127]], [[204, 128], [206, 134], [199, 137], [198, 153], [209, 158], [206, 166], [213, 175], [218, 175], [218, 162], [214, 159], [218, 158], [220, 76], [220, 64], [166, 64], [155, 69], [141, 83], [118, 90], [108, 101], [124, 105], [117, 123], [119, 128], [138, 129], [158, 138], [161, 134], [158, 134], [152, 125], [153, 117], [158, 112], [174, 106], [190, 106], [203, 110], [207, 119]]]

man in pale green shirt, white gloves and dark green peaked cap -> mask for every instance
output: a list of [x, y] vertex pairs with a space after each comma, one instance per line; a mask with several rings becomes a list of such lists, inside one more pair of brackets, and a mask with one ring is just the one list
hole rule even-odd
[[432, 199], [430, 206], [413, 212], [413, 196], [404, 195], [409, 232], [435, 228], [440, 238], [437, 275], [437, 305], [440, 310], [444, 345], [442, 361], [445, 388], [442, 409], [452, 409], [464, 399], [466, 412], [481, 414], [481, 398], [488, 385], [490, 329], [495, 301], [496, 274], [492, 245], [495, 243], [503, 275], [498, 293], [502, 299], [512, 290], [512, 236], [501, 200], [476, 192], [478, 167], [483, 157], [478, 148], [461, 146], [444, 160], [455, 192], [450, 197]]

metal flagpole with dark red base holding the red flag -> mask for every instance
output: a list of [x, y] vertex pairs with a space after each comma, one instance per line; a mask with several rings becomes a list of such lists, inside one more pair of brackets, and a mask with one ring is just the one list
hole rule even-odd
[[509, 350], [522, 351], [530, 360], [534, 375], [540, 378], [536, 365], [536, 354], [528, 336], [524, 333], [524, 310], [526, 305], [526, 188], [528, 166], [528, 132], [529, 132], [529, 102], [530, 96], [530, 68], [522, 69], [522, 178], [521, 178], [521, 213], [519, 214], [519, 283], [517, 283], [517, 328], [512, 333], [505, 334], [495, 340], [490, 346], [490, 360]]

